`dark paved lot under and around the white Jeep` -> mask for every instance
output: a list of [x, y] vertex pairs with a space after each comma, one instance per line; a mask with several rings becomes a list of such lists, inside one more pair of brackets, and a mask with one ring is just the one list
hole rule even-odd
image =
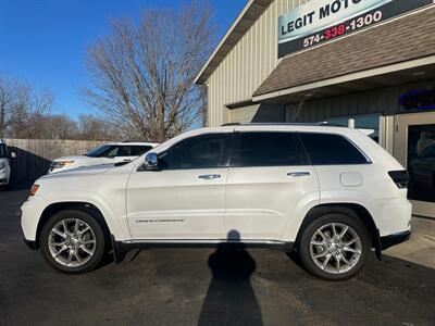
[[146, 250], [63, 275], [23, 243], [26, 197], [0, 192], [0, 325], [435, 325], [435, 269], [387, 256], [345, 283], [268, 250]]

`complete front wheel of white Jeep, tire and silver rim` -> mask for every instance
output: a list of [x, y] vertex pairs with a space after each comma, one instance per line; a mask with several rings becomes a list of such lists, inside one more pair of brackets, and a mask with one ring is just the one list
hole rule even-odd
[[100, 224], [79, 210], [54, 214], [44, 225], [39, 243], [45, 260], [64, 273], [94, 269], [104, 254], [104, 234]]

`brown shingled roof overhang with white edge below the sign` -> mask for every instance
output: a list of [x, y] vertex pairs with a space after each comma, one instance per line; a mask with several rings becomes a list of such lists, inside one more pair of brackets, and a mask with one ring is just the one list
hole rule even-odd
[[253, 92], [297, 102], [435, 78], [435, 7], [295, 53]]

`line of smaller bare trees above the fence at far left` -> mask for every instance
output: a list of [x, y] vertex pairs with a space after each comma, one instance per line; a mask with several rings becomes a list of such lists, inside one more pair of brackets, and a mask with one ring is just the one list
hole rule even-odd
[[120, 135], [110, 122], [90, 114], [74, 120], [51, 114], [53, 95], [27, 83], [0, 74], [0, 139], [113, 140]]

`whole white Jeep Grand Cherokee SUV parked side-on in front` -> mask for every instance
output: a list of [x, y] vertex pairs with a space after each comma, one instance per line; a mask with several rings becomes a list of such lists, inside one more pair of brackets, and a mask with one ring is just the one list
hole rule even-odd
[[175, 137], [120, 166], [38, 179], [26, 242], [66, 273], [133, 248], [278, 247], [345, 279], [410, 235], [408, 174], [357, 129], [228, 125]]

